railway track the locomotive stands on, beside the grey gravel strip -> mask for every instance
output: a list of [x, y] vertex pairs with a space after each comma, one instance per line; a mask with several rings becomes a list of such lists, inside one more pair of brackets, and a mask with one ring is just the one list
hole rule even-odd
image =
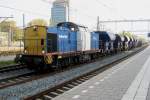
[[[93, 61], [91, 61], [91, 62], [93, 62]], [[88, 63], [91, 63], [91, 62], [88, 62]], [[80, 65], [83, 65], [83, 64], [74, 65], [74, 68], [76, 66], [80, 66]], [[26, 67], [24, 67], [24, 68], [26, 68]], [[13, 69], [13, 70], [15, 70], [15, 69]], [[10, 76], [10, 77], [8, 76], [8, 77], [4, 77], [4, 78], [0, 77], [0, 89], [4, 89], [9, 86], [19, 85], [22, 83], [41, 79], [46, 76], [53, 76], [57, 73], [61, 73], [61, 72], [70, 70], [70, 68], [68, 67], [68, 68], [64, 68], [62, 70], [53, 70], [53, 72], [47, 71], [46, 73], [36, 73], [34, 70], [26, 70], [27, 72], [24, 72], [23, 69], [18, 69], [18, 70], [21, 70], [21, 74], [17, 74], [17, 75]], [[18, 70], [16, 70], [16, 71], [18, 71]], [[10, 72], [10, 71], [11, 70], [8, 70], [8, 72]], [[3, 72], [6, 74], [8, 73], [7, 70], [3, 71]], [[0, 75], [1, 75], [1, 73], [0, 73]], [[5, 76], [5, 75], [3, 75], [3, 76]]]

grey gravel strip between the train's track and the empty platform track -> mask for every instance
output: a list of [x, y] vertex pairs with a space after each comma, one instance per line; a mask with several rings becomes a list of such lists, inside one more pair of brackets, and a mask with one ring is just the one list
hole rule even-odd
[[42, 92], [50, 87], [63, 83], [66, 80], [80, 76], [81, 74], [90, 72], [103, 65], [113, 62], [116, 59], [122, 58], [123, 56], [126, 56], [131, 52], [132, 51], [130, 52], [126, 51], [125, 53], [121, 53], [88, 65], [83, 65], [82, 67], [71, 69], [70, 71], [62, 72], [54, 76], [49, 76], [42, 79], [33, 80], [32, 82], [27, 82], [21, 85], [2, 89], [0, 90], [0, 100], [20, 100], [23, 99], [24, 97], [37, 94], [38, 92]]

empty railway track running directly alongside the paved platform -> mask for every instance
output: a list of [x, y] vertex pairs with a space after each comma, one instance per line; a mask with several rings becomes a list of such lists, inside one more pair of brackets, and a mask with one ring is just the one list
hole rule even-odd
[[78, 86], [79, 84], [82, 84], [83, 82], [91, 79], [92, 77], [94, 77], [94, 76], [102, 73], [103, 71], [113, 67], [114, 65], [128, 59], [129, 57], [137, 54], [138, 52], [144, 50], [145, 48], [146, 47], [143, 47], [140, 50], [137, 50], [136, 52], [131, 53], [131, 54], [129, 54], [129, 55], [127, 55], [127, 56], [125, 56], [119, 60], [116, 60], [112, 63], [104, 65], [101, 68], [98, 68], [98, 69], [93, 70], [91, 72], [88, 72], [86, 74], [82, 74], [78, 77], [74, 77], [71, 80], [66, 80], [65, 82], [63, 82], [57, 86], [54, 86], [54, 87], [47, 89], [46, 91], [40, 92], [40, 93], [33, 95], [33, 96], [25, 97], [24, 99], [25, 100], [51, 100], [51, 99], [55, 98], [56, 96], [61, 95], [62, 93]]

